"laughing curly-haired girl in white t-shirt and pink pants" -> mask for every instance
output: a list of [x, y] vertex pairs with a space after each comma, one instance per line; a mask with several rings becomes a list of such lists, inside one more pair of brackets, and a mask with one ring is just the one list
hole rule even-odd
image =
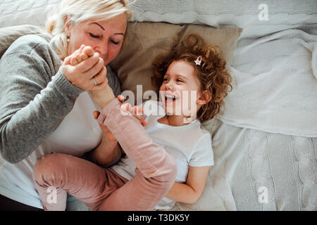
[[[85, 51], [73, 61], [86, 60]], [[121, 113], [111, 89], [92, 92], [103, 108], [98, 121], [108, 138], [103, 145], [107, 147], [93, 151], [94, 159], [106, 164], [102, 155], [118, 148], [118, 143], [126, 156], [107, 168], [70, 155], [42, 157], [35, 165], [34, 179], [44, 210], [64, 210], [66, 192], [91, 210], [170, 209], [175, 201], [198, 200], [213, 165], [211, 136], [201, 122], [219, 113], [231, 87], [225, 60], [216, 46], [189, 35], [185, 45], [154, 60], [153, 78], [160, 85], [162, 101], [149, 104], [163, 108], [164, 114], [152, 110], [146, 127], [131, 113]], [[190, 110], [185, 112], [187, 106]]]

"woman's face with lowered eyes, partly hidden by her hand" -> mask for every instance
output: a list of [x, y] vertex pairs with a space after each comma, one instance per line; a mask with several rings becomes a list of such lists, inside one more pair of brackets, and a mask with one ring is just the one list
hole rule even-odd
[[66, 34], [70, 37], [68, 56], [82, 44], [91, 46], [108, 65], [118, 55], [125, 37], [127, 16], [125, 13], [110, 20], [87, 20], [76, 25], [66, 24]]

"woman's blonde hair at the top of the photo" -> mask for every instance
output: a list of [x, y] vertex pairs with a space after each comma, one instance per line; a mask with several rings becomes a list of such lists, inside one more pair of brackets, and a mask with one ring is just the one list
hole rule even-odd
[[67, 22], [73, 25], [85, 20], [108, 20], [125, 13], [130, 19], [128, 0], [63, 0], [57, 11], [46, 20], [45, 30], [53, 36], [51, 45], [61, 58], [68, 56], [68, 37], [65, 32]]

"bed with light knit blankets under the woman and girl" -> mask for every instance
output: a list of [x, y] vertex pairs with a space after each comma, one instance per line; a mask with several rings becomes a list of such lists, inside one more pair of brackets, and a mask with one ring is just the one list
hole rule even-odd
[[[1, 1], [0, 28], [42, 27], [58, 1]], [[172, 210], [316, 211], [317, 1], [137, 0], [131, 8], [132, 25], [239, 31], [228, 56], [233, 91], [223, 114], [204, 124], [215, 165], [198, 202]]]

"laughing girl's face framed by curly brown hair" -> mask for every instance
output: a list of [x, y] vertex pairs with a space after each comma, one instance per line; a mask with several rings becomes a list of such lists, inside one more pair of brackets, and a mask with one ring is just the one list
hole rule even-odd
[[170, 64], [160, 87], [160, 96], [168, 115], [196, 116], [200, 92], [199, 80], [192, 65], [182, 60]]

